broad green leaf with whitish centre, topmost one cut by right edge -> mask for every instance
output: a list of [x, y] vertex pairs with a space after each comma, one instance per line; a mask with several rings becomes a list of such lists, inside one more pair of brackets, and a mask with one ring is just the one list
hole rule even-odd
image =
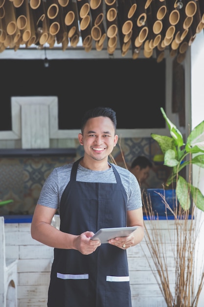
[[187, 153], [204, 153], [204, 121], [196, 126], [187, 137], [185, 150]]

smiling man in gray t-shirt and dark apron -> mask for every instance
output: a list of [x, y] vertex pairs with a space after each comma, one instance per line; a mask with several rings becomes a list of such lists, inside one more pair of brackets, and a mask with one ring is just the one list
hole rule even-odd
[[[127, 169], [109, 163], [117, 144], [116, 116], [97, 107], [82, 119], [84, 156], [46, 179], [31, 224], [34, 239], [54, 247], [48, 307], [131, 307], [126, 250], [144, 236], [141, 193]], [[60, 230], [50, 226], [59, 209]], [[100, 228], [137, 226], [101, 244]]]

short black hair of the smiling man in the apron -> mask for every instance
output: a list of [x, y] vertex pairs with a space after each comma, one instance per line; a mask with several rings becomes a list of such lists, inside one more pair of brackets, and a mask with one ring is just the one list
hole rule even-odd
[[90, 118], [99, 117], [99, 116], [109, 117], [116, 131], [117, 120], [116, 120], [115, 111], [113, 111], [113, 109], [109, 107], [99, 106], [99, 107], [88, 110], [84, 114], [84, 116], [82, 117], [82, 121], [81, 121], [81, 132], [83, 133], [84, 127]]

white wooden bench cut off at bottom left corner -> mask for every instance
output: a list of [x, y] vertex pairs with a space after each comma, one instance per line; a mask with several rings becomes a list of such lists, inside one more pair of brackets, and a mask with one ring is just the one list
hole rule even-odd
[[4, 217], [0, 216], [0, 307], [17, 307], [17, 262], [5, 256]]

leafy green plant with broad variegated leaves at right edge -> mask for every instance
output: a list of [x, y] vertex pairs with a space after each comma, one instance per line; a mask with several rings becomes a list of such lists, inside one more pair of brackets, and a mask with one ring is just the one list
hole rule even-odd
[[[165, 182], [166, 186], [176, 183], [176, 195], [181, 207], [188, 210], [191, 198], [196, 206], [204, 211], [204, 195], [181, 175], [181, 170], [189, 165], [191, 174], [192, 164], [204, 168], [204, 121], [196, 126], [187, 137], [186, 143], [179, 129], [168, 119], [163, 108], [160, 108], [167, 123], [171, 136], [151, 133], [151, 137], [159, 144], [163, 153], [163, 164], [170, 167], [172, 172]], [[193, 155], [193, 156], [192, 156]]]

